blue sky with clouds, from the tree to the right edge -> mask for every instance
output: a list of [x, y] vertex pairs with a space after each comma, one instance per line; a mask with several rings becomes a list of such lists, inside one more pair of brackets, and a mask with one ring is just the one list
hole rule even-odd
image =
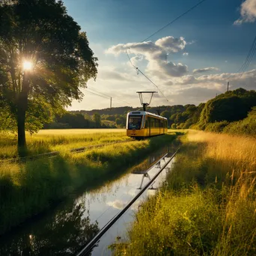
[[255, 58], [237, 72], [255, 38], [256, 0], [206, 0], [149, 39], [199, 0], [63, 1], [99, 59], [96, 81], [69, 110], [108, 108], [106, 95], [113, 107], [140, 106], [136, 91], [158, 91], [150, 106], [172, 106], [206, 102], [228, 81], [231, 90], [256, 88]]

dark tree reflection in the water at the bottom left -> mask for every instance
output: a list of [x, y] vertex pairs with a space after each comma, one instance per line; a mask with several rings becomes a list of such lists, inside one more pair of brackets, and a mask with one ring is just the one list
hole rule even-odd
[[84, 205], [77, 204], [71, 211], [58, 212], [46, 225], [13, 237], [9, 244], [2, 241], [0, 255], [73, 255], [100, 230], [89, 215], [82, 218], [84, 210]]

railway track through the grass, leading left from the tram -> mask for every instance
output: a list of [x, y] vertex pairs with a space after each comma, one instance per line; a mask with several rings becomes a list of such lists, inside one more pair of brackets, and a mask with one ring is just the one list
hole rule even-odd
[[[134, 139], [129, 139], [127, 141], [114, 141], [114, 142], [109, 142], [109, 143], [104, 143], [104, 144], [95, 144], [95, 145], [91, 145], [88, 147], [76, 147], [73, 148], [71, 150], [68, 150], [68, 152], [70, 153], [82, 153], [85, 150], [91, 150], [94, 148], [99, 148], [99, 147], [106, 147], [112, 144], [121, 144], [121, 143], [126, 143], [126, 142], [130, 142], [130, 141], [135, 141]], [[55, 157], [58, 156], [61, 152], [60, 151], [52, 151], [52, 152], [47, 152], [47, 153], [40, 153], [34, 156], [24, 156], [24, 157], [18, 157], [18, 158], [12, 158], [12, 159], [6, 159], [6, 160], [2, 160], [0, 161], [0, 164], [4, 164], [4, 163], [12, 163], [12, 162], [27, 162], [27, 161], [31, 161], [31, 160], [36, 160], [36, 159], [41, 159], [41, 158], [50, 158], [50, 157]]]

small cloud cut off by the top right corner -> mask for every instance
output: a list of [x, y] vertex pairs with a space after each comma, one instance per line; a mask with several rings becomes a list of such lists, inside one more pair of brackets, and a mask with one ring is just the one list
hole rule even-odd
[[240, 19], [237, 19], [234, 24], [240, 25], [243, 22], [255, 22], [256, 19], [256, 1], [246, 0], [240, 7]]

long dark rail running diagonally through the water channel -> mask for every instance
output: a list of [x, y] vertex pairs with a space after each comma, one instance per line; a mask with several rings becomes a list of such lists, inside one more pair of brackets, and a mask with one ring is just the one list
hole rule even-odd
[[[162, 168], [159, 169], [159, 171], [155, 174], [155, 176], [140, 190], [140, 192], [138, 192], [137, 195], [135, 195], [134, 198], [132, 198], [131, 201], [129, 201], [129, 203], [127, 204], [126, 207], [124, 207], [123, 210], [121, 210], [120, 213], [118, 213], [116, 216], [114, 216], [99, 232], [98, 234], [91, 240], [90, 243], [88, 243], [80, 252], [78, 252], [78, 254], [76, 256], [85, 256], [85, 255], [90, 255], [91, 254], [91, 250], [94, 249], [94, 246], [96, 245], [96, 243], [100, 240], [100, 237], [103, 237], [103, 234], [105, 234], [109, 228], [112, 227], [112, 225], [115, 224], [115, 222], [118, 221], [118, 219], [121, 218], [121, 216], [124, 215], [124, 213], [129, 209], [129, 207], [132, 206], [132, 204], [135, 203], [135, 201], [138, 200], [138, 198], [141, 197], [141, 195], [144, 193], [144, 191], [146, 189], [148, 189], [150, 187], [150, 185], [153, 185], [153, 183], [156, 180], [156, 177], [159, 176], [159, 174], [161, 174], [161, 172], [168, 166], [168, 164], [171, 162], [171, 160], [174, 158], [174, 156], [176, 155], [176, 153], [178, 152], [179, 148], [175, 151], [174, 154], [172, 154], [171, 156], [168, 156], [168, 154], [165, 154], [165, 156], [162, 156], [161, 159], [159, 159], [159, 161], [157, 161], [155, 163], [156, 166], [162, 159], [165, 159], [165, 157], [169, 157], [168, 160], [165, 162], [165, 164], [162, 166]], [[150, 168], [153, 168], [150, 167]]]

